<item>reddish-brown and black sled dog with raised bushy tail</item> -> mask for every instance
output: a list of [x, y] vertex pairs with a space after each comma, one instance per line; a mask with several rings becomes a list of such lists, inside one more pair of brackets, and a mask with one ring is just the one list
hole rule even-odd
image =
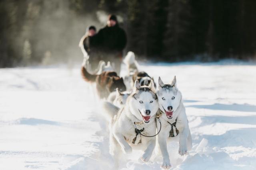
[[100, 99], [108, 98], [109, 94], [119, 88], [121, 92], [126, 90], [123, 78], [116, 72], [104, 71], [101, 74], [90, 74], [84, 66], [81, 68], [82, 78], [87, 82], [96, 82], [96, 90]]

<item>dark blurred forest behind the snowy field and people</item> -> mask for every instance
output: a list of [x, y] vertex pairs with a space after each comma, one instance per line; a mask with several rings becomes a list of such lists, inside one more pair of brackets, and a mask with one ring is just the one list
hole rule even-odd
[[256, 59], [255, 0], [1, 0], [0, 67], [81, 59], [86, 27], [116, 14], [124, 53], [151, 61]]

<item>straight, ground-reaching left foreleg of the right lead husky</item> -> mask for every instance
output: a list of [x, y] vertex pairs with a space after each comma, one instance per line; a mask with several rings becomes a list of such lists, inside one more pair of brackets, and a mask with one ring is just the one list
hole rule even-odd
[[166, 136], [164, 134], [159, 135], [158, 144], [160, 146], [160, 150], [161, 150], [162, 156], [163, 156], [163, 164], [161, 165], [161, 168], [170, 169], [172, 167], [172, 165], [170, 163], [169, 153], [167, 150]]

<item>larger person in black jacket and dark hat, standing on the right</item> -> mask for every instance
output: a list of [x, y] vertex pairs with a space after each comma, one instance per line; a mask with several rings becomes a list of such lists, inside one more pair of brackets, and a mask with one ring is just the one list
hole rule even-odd
[[122, 62], [122, 51], [126, 46], [127, 38], [115, 15], [109, 15], [107, 25], [100, 29], [95, 36], [98, 50], [101, 52], [102, 60], [110, 61], [115, 71], [119, 74]]

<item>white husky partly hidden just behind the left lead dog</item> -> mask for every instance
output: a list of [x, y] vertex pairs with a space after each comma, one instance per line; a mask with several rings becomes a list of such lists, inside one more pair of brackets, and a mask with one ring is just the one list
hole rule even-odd
[[118, 88], [116, 88], [116, 92], [110, 93], [108, 96], [108, 101], [114, 104], [115, 106], [121, 108], [126, 103], [128, 96], [130, 96], [131, 92], [120, 92]]

